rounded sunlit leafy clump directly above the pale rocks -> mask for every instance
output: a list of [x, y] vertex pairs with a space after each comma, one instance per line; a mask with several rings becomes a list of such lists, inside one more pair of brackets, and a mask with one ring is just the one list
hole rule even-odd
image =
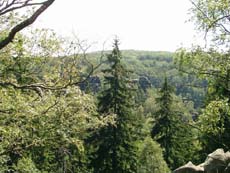
[[[217, 148], [229, 150], [230, 114], [229, 101], [213, 100], [199, 116], [198, 125], [201, 130], [201, 144], [204, 154]], [[205, 155], [204, 155], [205, 156]]]

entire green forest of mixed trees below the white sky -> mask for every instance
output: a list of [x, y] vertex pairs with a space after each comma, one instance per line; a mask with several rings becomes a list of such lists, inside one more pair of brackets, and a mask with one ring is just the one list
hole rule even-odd
[[0, 0], [1, 173], [170, 173], [230, 150], [229, 1], [191, 0], [207, 44], [176, 52], [88, 52], [33, 27], [54, 1]]

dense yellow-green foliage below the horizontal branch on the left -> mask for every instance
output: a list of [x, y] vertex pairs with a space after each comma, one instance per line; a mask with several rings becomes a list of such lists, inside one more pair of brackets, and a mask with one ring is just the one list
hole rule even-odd
[[1, 155], [10, 157], [7, 164], [32, 155], [31, 159], [43, 171], [64, 169], [63, 164], [70, 170], [79, 167], [85, 132], [103, 125], [94, 116], [92, 98], [77, 88], [68, 89], [67, 95], [59, 97], [56, 93], [47, 93], [42, 100], [19, 91], [11, 90], [9, 94], [1, 91], [5, 98], [1, 106], [11, 111], [1, 117], [1, 138], [4, 139]]

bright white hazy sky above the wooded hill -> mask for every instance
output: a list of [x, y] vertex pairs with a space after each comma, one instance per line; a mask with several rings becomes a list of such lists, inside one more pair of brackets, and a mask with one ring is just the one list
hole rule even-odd
[[189, 0], [56, 0], [36, 25], [98, 42], [96, 49], [117, 35], [121, 49], [175, 51], [196, 41], [190, 7]]

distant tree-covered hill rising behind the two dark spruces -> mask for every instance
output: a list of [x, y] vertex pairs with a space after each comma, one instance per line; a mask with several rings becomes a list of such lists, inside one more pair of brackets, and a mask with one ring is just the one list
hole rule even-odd
[[[96, 63], [100, 53], [90, 53], [88, 56], [91, 61]], [[133, 78], [139, 80], [143, 89], [150, 87], [150, 85], [154, 88], [160, 88], [166, 75], [171, 85], [175, 87], [177, 95], [181, 95], [185, 100], [193, 101], [196, 108], [202, 106], [206, 82], [195, 78], [195, 76], [180, 73], [173, 62], [174, 53], [123, 50], [122, 56], [123, 63], [129, 70], [133, 71]], [[95, 84], [91, 87], [95, 89], [96, 86], [96, 90], [99, 90], [102, 75], [100, 70], [105, 66], [106, 63], [95, 73], [97, 77], [91, 78], [89, 81], [89, 83]]]

